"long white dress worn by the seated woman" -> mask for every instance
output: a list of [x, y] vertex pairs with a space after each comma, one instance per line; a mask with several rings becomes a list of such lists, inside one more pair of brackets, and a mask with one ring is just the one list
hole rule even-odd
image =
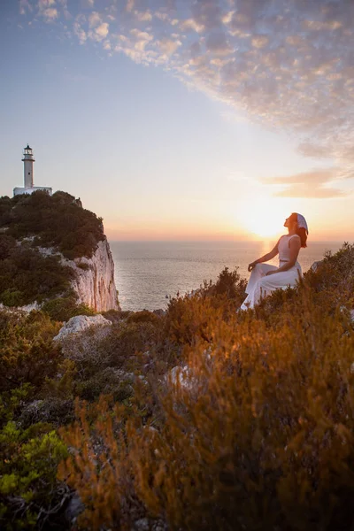
[[[298, 235], [283, 235], [278, 243], [279, 250], [279, 267], [283, 266], [285, 262], [289, 262], [290, 250], [289, 242], [291, 238], [298, 238]], [[270, 264], [257, 264], [250, 273], [250, 280], [247, 284], [246, 293], [247, 298], [243, 301], [242, 310], [254, 308], [255, 304], [275, 291], [275, 289], [287, 289], [288, 286], [294, 288], [296, 281], [303, 276], [300, 264], [297, 262], [290, 267], [288, 271], [281, 271], [281, 273], [274, 273], [266, 276], [268, 271], [274, 271], [278, 267]]]

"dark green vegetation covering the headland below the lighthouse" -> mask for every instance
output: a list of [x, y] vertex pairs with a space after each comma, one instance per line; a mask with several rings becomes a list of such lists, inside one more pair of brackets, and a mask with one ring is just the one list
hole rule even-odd
[[38, 248], [54, 247], [70, 259], [91, 257], [101, 240], [102, 219], [65, 192], [0, 197], [0, 303], [22, 306], [60, 296], [46, 305], [54, 319], [88, 313], [70, 289], [73, 269], [59, 254], [45, 256]]

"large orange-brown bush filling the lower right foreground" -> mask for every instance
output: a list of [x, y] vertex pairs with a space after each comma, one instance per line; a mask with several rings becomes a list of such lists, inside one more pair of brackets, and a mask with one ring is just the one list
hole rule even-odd
[[162, 388], [158, 429], [101, 400], [96, 420], [83, 408], [62, 432], [86, 449], [59, 468], [87, 504], [81, 525], [128, 528], [127, 508], [138, 507], [176, 530], [350, 528], [354, 332], [346, 313], [319, 306], [309, 288], [269, 320], [257, 312], [221, 319], [204, 296], [178, 299], [169, 312], [168, 333], [184, 344], [189, 371], [183, 384]]

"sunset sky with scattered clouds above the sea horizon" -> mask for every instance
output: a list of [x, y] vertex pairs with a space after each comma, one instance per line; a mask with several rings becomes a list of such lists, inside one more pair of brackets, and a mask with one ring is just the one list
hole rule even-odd
[[0, 195], [111, 240], [354, 239], [352, 0], [2, 0]]

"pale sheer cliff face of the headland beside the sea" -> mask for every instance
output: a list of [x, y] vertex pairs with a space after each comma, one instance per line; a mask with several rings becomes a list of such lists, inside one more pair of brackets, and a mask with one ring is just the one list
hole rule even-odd
[[114, 283], [114, 262], [107, 240], [98, 243], [92, 258], [62, 258], [61, 262], [75, 272], [72, 286], [79, 304], [87, 304], [96, 312], [120, 309]]

